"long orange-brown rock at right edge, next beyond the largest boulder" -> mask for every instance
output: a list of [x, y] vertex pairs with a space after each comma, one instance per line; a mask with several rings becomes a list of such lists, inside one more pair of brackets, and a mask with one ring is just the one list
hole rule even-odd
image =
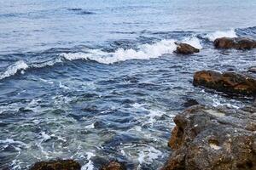
[[195, 72], [193, 84], [212, 88], [226, 94], [256, 96], [256, 78], [235, 72]]

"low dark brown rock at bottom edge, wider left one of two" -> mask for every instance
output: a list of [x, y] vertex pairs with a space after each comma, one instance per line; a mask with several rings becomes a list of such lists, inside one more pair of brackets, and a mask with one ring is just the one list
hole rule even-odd
[[30, 170], [80, 170], [79, 162], [73, 160], [38, 161]]

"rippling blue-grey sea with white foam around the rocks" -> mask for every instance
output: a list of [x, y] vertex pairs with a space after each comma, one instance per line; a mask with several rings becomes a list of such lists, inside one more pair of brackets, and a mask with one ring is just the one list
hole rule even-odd
[[[202, 69], [246, 71], [255, 50], [217, 50], [216, 37], [256, 39], [256, 1], [0, 2], [0, 169], [73, 158], [157, 169], [187, 99], [241, 107], [195, 88]], [[173, 54], [174, 41], [201, 48]]]

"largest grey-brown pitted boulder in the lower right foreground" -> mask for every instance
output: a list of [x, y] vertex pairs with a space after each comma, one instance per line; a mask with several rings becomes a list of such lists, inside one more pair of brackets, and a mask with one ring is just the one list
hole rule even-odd
[[190, 107], [174, 118], [172, 155], [161, 170], [256, 169], [256, 115]]

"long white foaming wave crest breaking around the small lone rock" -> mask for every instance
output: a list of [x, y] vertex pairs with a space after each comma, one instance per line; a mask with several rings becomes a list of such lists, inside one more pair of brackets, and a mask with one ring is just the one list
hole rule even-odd
[[[101, 49], [88, 49], [82, 53], [65, 53], [60, 54], [55, 59], [42, 61], [40, 63], [28, 64], [24, 60], [16, 61], [13, 65], [9, 65], [6, 71], [0, 73], [0, 80], [6, 77], [14, 76], [17, 72], [23, 73], [27, 69], [31, 68], [43, 68], [45, 66], [55, 65], [56, 63], [63, 62], [65, 60], [76, 60], [76, 59], [88, 59], [94, 60], [102, 64], [113, 64], [128, 59], [154, 59], [162, 56], [163, 54], [172, 54], [177, 45], [176, 40], [161, 40], [160, 42], [154, 42], [152, 44], [142, 44], [137, 49], [129, 48], [118, 48], [113, 53], [102, 51]], [[186, 37], [182, 42], [189, 43], [195, 48], [202, 48], [201, 42], [197, 37]]]

